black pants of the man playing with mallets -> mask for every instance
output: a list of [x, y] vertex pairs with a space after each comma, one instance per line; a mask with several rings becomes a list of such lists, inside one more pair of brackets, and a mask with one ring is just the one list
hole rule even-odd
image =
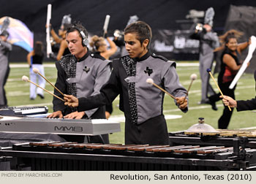
[[170, 145], [164, 115], [150, 118], [141, 124], [125, 122], [126, 145]]

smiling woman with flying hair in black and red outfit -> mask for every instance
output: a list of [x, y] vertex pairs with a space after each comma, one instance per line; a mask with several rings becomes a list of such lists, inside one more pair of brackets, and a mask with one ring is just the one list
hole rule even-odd
[[[230, 96], [233, 99], [235, 99], [236, 85], [233, 89], [230, 89], [229, 86], [232, 83], [233, 79], [236, 77], [236, 73], [238, 72], [241, 64], [243, 63], [243, 61], [241, 61], [241, 51], [246, 49], [246, 47], [251, 44], [250, 39], [248, 42], [238, 44], [237, 39], [241, 37], [241, 35], [243, 35], [243, 33], [236, 30], [230, 30], [219, 37], [220, 42], [222, 42], [223, 45], [222, 47], [224, 47], [224, 50], [221, 55], [222, 63], [218, 76], [218, 84], [222, 93]], [[215, 103], [216, 101], [220, 100], [219, 96], [221, 96], [220, 93], [215, 94], [213, 96], [210, 96], [209, 100], [211, 101], [211, 103]], [[228, 107], [225, 106], [222, 116], [218, 120], [219, 129], [227, 129], [232, 114], [233, 108], [231, 108], [230, 111]]]

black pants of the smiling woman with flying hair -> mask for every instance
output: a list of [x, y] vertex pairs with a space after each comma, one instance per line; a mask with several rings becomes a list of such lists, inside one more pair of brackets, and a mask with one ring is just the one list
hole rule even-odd
[[[230, 83], [219, 83], [219, 88], [221, 89], [223, 95], [230, 96], [232, 99], [235, 99], [236, 86], [233, 89], [228, 88], [229, 86], [230, 86]], [[219, 96], [221, 96], [221, 93], [217, 93], [216, 95], [210, 96], [209, 100], [219, 101], [220, 100]], [[230, 123], [232, 114], [233, 114], [233, 108], [231, 108], [231, 111], [230, 111], [228, 107], [224, 105], [222, 116], [218, 120], [219, 129], [227, 129], [227, 126]]]

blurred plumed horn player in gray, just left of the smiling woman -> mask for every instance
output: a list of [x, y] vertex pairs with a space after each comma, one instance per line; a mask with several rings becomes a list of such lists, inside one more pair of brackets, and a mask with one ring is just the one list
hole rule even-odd
[[[214, 9], [212, 7], [206, 10], [204, 25], [197, 24], [195, 33], [191, 35], [192, 39], [200, 41], [199, 72], [201, 77], [201, 101], [199, 104], [210, 104], [208, 95], [216, 94], [209, 83], [209, 74], [206, 69], [211, 69], [214, 62], [214, 49], [219, 47], [219, 38], [217, 33], [212, 30], [214, 24]], [[217, 110], [215, 103], [211, 104], [213, 110]]]

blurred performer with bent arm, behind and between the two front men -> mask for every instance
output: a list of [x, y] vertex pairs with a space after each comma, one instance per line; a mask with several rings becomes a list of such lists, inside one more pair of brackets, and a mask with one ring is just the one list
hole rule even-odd
[[[107, 34], [105, 34], [107, 35]], [[108, 49], [108, 45], [103, 37], [98, 37], [97, 35], [94, 35], [94, 37], [91, 37], [90, 46], [93, 48], [94, 54], [97, 54], [99, 56], [102, 56], [104, 59], [109, 60], [110, 56], [116, 53], [117, 47], [116, 44], [109, 38], [106, 38], [108, 40], [108, 43], [110, 45], [110, 49]], [[106, 105], [106, 118], [110, 118], [111, 113], [113, 112], [113, 105], [108, 104]]]

